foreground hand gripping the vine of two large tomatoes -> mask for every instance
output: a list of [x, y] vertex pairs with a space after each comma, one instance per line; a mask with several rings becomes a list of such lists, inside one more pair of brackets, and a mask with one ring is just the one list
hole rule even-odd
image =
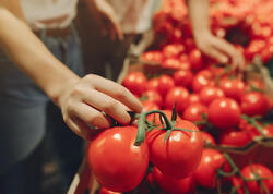
[[141, 102], [127, 88], [94, 74], [70, 84], [60, 97], [59, 106], [64, 122], [85, 140], [95, 131], [90, 125], [110, 126], [107, 114], [128, 124], [131, 118], [127, 111], [140, 113], [142, 110]]

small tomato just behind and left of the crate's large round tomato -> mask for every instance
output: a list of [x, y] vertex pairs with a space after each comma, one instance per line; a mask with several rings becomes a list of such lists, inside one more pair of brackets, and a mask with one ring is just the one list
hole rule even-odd
[[199, 93], [200, 101], [209, 106], [214, 99], [224, 97], [222, 89], [213, 86], [204, 86]]

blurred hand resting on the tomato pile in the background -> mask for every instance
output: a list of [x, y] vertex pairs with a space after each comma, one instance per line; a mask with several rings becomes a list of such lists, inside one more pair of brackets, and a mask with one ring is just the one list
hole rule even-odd
[[206, 56], [223, 64], [230, 62], [233, 70], [242, 71], [242, 54], [225, 39], [218, 38], [211, 33], [199, 33], [195, 36], [195, 41], [199, 49]]

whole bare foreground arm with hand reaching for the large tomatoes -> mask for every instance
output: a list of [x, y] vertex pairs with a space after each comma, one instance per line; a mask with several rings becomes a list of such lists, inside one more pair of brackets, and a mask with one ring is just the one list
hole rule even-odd
[[[88, 124], [108, 128], [110, 123], [102, 111], [123, 124], [130, 121], [127, 107], [141, 111], [140, 101], [121, 85], [97, 75], [75, 75], [16, 17], [20, 12], [15, 16], [3, 1], [0, 0], [1, 48], [61, 108], [66, 123], [78, 135], [86, 138]], [[9, 0], [12, 1], [17, 0]]]

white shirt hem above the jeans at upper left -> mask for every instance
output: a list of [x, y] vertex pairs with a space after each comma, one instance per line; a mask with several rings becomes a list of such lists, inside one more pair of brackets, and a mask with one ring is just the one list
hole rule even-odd
[[78, 0], [20, 0], [33, 29], [67, 27], [76, 14]]

